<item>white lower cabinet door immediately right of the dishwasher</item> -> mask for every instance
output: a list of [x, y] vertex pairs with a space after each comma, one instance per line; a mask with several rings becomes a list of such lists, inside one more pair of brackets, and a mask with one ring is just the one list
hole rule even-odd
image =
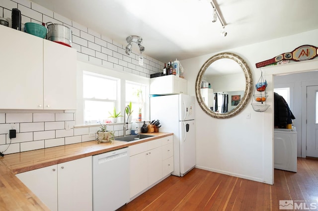
[[147, 153], [130, 157], [130, 198], [148, 187]]

